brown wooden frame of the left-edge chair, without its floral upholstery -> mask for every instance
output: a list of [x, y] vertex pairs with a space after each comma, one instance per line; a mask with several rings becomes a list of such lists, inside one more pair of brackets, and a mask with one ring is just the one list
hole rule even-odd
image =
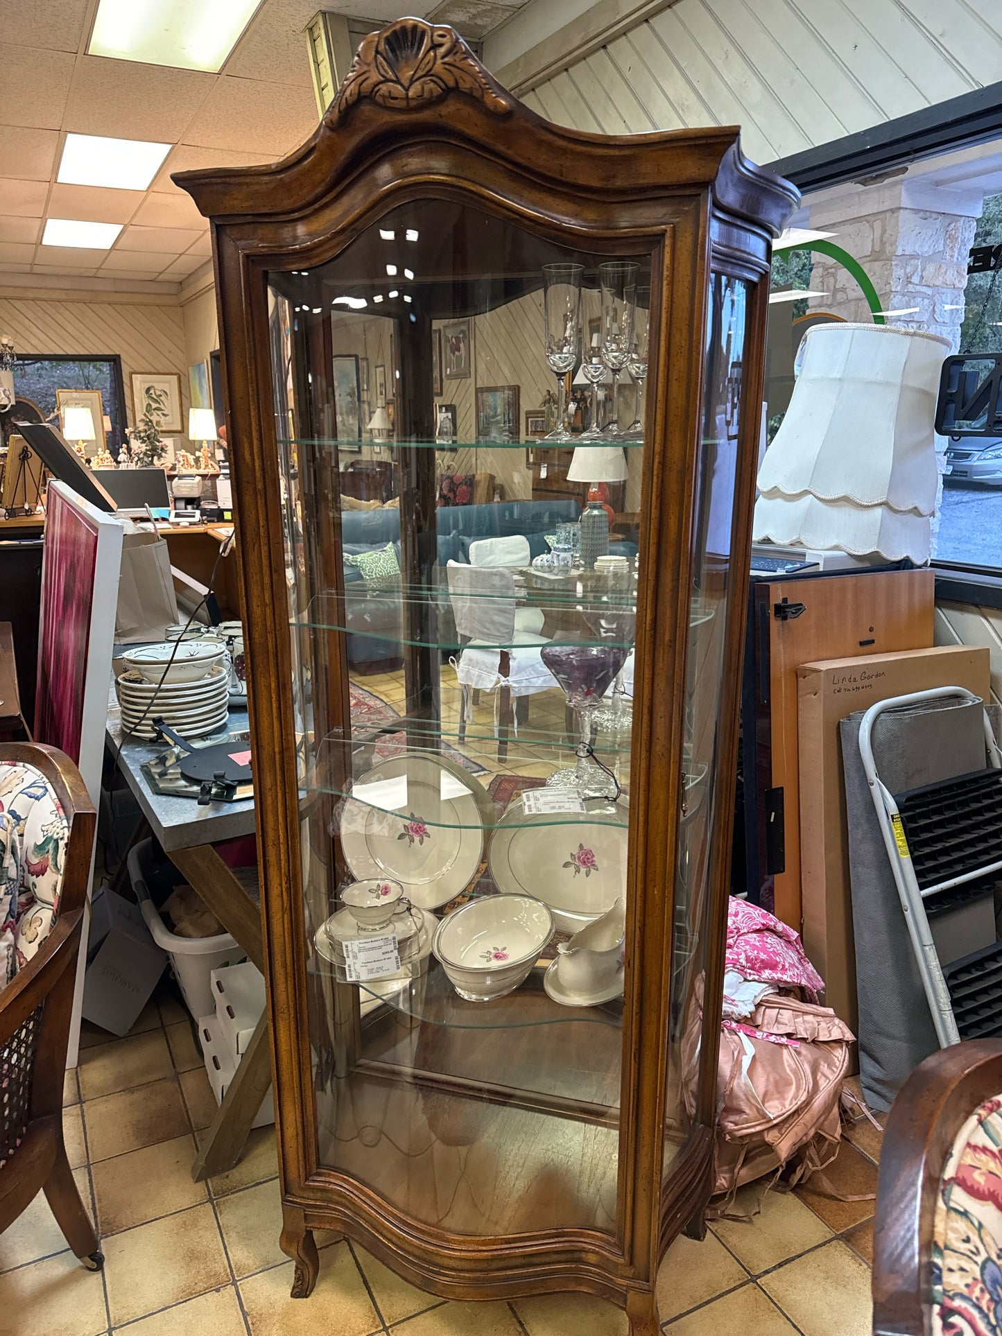
[[63, 1083], [80, 927], [96, 814], [80, 772], [64, 752], [36, 743], [0, 744], [0, 767], [32, 766], [59, 800], [69, 827], [59, 912], [39, 953], [0, 991], [4, 1065], [0, 1232], [41, 1188], [67, 1242], [92, 1271], [104, 1257], [76, 1190], [63, 1144]]

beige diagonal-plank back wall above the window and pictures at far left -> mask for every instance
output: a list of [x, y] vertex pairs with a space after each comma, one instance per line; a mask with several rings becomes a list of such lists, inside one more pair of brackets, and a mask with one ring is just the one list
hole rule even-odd
[[183, 421], [188, 420], [188, 363], [184, 323], [176, 298], [104, 301], [98, 293], [59, 291], [45, 297], [0, 289], [0, 333], [19, 353], [118, 353], [126, 383], [126, 415], [132, 425], [132, 371], [176, 371]]

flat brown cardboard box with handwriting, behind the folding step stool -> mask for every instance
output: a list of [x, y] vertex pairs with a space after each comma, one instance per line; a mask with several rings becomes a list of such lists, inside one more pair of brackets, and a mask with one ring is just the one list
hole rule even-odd
[[854, 1033], [856, 954], [839, 720], [888, 696], [930, 687], [966, 687], [990, 701], [989, 659], [989, 651], [977, 645], [950, 645], [798, 668], [803, 942], [824, 979], [824, 1003]]

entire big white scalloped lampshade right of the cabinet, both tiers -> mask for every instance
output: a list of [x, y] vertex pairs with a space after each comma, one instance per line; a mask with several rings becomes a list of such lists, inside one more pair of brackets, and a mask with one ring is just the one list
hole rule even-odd
[[929, 561], [938, 469], [938, 334], [816, 325], [759, 469], [754, 537], [858, 557]]

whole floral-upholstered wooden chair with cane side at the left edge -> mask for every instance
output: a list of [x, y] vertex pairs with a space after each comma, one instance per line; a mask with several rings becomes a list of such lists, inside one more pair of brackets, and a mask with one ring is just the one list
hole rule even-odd
[[0, 744], [0, 1232], [41, 1188], [103, 1265], [63, 1144], [63, 1083], [96, 815], [55, 747]]

